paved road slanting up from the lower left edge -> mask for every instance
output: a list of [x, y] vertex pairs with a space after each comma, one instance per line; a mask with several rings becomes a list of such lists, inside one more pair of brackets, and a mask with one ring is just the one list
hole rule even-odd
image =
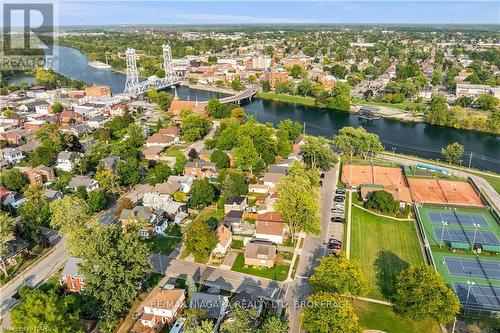
[[[22, 286], [36, 287], [42, 283], [52, 273], [57, 271], [68, 259], [65, 251], [64, 239], [59, 240], [49, 254], [41, 259], [35, 266], [31, 267], [23, 274], [11, 280], [7, 285], [0, 288], [0, 317], [4, 316], [17, 303], [12, 296], [21, 289]], [[2, 322], [0, 328], [6, 328], [8, 323]]]

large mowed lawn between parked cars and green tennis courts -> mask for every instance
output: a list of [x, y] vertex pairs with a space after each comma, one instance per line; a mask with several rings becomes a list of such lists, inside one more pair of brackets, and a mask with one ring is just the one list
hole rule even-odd
[[415, 222], [395, 221], [351, 206], [351, 258], [368, 278], [371, 298], [390, 299], [397, 274], [424, 262]]

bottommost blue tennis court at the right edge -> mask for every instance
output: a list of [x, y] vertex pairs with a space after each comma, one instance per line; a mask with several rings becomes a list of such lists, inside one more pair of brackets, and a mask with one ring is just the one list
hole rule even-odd
[[467, 283], [454, 282], [453, 287], [463, 305], [500, 310], [500, 287], [476, 284], [470, 286], [470, 293]]

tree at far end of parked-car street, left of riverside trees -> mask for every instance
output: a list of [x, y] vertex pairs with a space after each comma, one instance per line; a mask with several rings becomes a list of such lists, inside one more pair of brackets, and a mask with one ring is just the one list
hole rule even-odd
[[337, 158], [325, 139], [308, 136], [300, 147], [304, 162], [312, 168], [331, 169]]

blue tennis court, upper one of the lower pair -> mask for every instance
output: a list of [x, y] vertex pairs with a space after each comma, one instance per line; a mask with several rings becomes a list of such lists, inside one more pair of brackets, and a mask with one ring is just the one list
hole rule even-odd
[[450, 275], [500, 280], [500, 260], [445, 257], [444, 262]]

